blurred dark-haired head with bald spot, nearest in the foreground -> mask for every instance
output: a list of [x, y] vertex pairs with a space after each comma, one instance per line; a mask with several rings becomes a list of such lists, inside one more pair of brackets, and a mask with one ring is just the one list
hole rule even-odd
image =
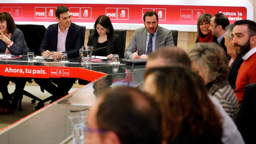
[[131, 87], [102, 95], [99, 128], [114, 132], [122, 144], [161, 143], [161, 114], [153, 98]]

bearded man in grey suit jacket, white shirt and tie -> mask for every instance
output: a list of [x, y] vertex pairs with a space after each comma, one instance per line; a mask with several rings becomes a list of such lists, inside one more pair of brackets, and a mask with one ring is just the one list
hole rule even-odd
[[[135, 30], [132, 40], [124, 52], [125, 59], [147, 59], [158, 47], [173, 45], [172, 31], [158, 26], [158, 15], [148, 11], [143, 15], [143, 28]], [[138, 53], [136, 53], [138, 51]]]

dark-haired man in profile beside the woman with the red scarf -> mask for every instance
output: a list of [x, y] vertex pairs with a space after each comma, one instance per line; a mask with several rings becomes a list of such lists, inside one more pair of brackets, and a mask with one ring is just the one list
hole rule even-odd
[[212, 31], [212, 35], [218, 37], [217, 42], [223, 47], [227, 55], [227, 47], [225, 46], [225, 39], [223, 38], [226, 33], [226, 26], [229, 25], [229, 20], [226, 15], [222, 13], [214, 14], [211, 18], [211, 25], [209, 29]]

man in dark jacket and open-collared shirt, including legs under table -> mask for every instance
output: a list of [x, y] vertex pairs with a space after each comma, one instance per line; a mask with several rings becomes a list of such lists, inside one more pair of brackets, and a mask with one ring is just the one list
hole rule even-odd
[[[61, 53], [67, 53], [68, 58], [79, 57], [79, 49], [83, 45], [83, 28], [71, 23], [68, 7], [59, 6], [55, 14], [59, 23], [47, 28], [39, 53], [43, 57], [53, 59], [60, 59]], [[67, 95], [75, 82], [75, 78], [34, 78], [34, 80], [42, 89], [53, 94], [52, 102]]]

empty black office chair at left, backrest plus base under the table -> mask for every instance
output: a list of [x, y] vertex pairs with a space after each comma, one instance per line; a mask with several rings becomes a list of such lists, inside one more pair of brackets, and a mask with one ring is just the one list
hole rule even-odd
[[[35, 55], [41, 55], [41, 53], [38, 53], [38, 49], [43, 42], [44, 34], [46, 31], [46, 28], [43, 25], [16, 25], [18, 29], [20, 29], [25, 37], [25, 41], [29, 47], [29, 50], [31, 52], [34, 52]], [[31, 78], [28, 78], [28, 82], [32, 83]], [[41, 90], [43, 91], [43, 90]], [[26, 95], [27, 97], [33, 99], [31, 100], [32, 103], [35, 103], [37, 101], [42, 101], [41, 99], [37, 98], [35, 95], [23, 90], [23, 95]], [[22, 111], [21, 107], [21, 99], [19, 100], [19, 107], [18, 110]]]

